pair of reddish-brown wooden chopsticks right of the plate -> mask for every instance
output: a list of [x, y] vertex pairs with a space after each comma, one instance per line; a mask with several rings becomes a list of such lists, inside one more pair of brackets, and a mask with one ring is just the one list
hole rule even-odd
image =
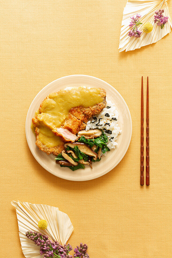
[[[140, 138], [140, 184], [144, 185], [144, 136], [143, 136], [143, 76], [141, 91], [141, 138]], [[147, 77], [147, 100], [146, 100], [146, 186], [149, 186], [149, 80]]]

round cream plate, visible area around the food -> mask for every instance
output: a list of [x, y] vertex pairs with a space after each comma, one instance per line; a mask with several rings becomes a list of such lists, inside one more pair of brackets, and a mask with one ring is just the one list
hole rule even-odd
[[[41, 102], [51, 92], [56, 92], [66, 87], [79, 86], [100, 87], [106, 90], [106, 99], [111, 100], [112, 103], [115, 103], [116, 109], [119, 112], [118, 124], [122, 130], [122, 133], [118, 135], [118, 140], [116, 141], [118, 142], [118, 146], [108, 152], [106, 157], [102, 157], [100, 162], [93, 163], [92, 169], [89, 166], [85, 166], [85, 169], [72, 171], [69, 168], [60, 167], [60, 165], [56, 164], [54, 155], [47, 155], [43, 151], [39, 150], [35, 144], [35, 134], [31, 128], [31, 123], [32, 117], [35, 116], [35, 112], [39, 108]], [[30, 151], [37, 162], [53, 175], [72, 181], [95, 179], [111, 171], [126, 154], [131, 140], [131, 133], [131, 115], [122, 96], [110, 84], [88, 75], [69, 75], [49, 83], [36, 95], [32, 101], [26, 118], [26, 138]]]

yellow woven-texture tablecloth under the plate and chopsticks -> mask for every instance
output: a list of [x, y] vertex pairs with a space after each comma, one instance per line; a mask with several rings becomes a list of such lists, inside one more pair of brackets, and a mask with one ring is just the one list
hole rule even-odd
[[[0, 256], [24, 257], [10, 204], [19, 199], [67, 213], [74, 225], [69, 242], [87, 243], [92, 258], [172, 257], [172, 33], [155, 44], [119, 53], [126, 0], [0, 2]], [[71, 74], [110, 83], [126, 101], [133, 124], [131, 143], [120, 164], [87, 182], [66, 181], [45, 171], [25, 136], [26, 114], [35, 95], [51, 81]], [[142, 75], [145, 104], [149, 76], [149, 187], [139, 182]], [[146, 106], [144, 115], [146, 120]]]

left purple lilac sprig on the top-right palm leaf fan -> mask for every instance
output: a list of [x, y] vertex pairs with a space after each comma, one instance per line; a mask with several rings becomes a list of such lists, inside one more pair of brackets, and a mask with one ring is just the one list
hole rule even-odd
[[128, 36], [129, 37], [136, 37], [136, 38], [139, 38], [142, 34], [142, 31], [139, 30], [137, 28], [138, 25], [142, 24], [140, 21], [139, 21], [139, 18], [141, 17], [142, 15], [141, 14], [136, 14], [136, 17], [134, 17], [134, 15], [131, 18], [131, 22], [129, 24], [129, 27], [131, 28], [131, 30], [129, 31], [128, 33]]

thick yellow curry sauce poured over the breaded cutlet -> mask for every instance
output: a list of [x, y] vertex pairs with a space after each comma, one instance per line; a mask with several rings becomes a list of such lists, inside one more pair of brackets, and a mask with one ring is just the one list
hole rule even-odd
[[42, 102], [41, 114], [37, 113], [39, 140], [49, 147], [59, 146], [62, 142], [52, 130], [60, 127], [71, 108], [82, 106], [88, 108], [102, 102], [99, 88], [72, 88], [51, 93]]

